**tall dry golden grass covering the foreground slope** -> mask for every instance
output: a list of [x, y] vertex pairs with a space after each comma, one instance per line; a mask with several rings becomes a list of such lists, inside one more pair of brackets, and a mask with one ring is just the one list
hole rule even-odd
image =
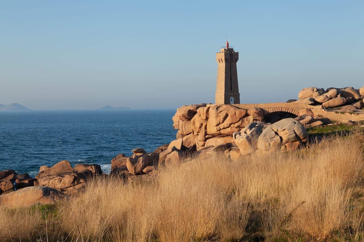
[[362, 241], [363, 158], [363, 137], [353, 134], [290, 153], [185, 160], [143, 183], [94, 180], [55, 208], [1, 209], [0, 238]]

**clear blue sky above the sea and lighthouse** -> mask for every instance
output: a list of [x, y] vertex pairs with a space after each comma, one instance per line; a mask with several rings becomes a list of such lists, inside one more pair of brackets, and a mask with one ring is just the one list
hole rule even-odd
[[3, 1], [0, 103], [32, 109], [214, 102], [239, 52], [241, 102], [364, 85], [364, 1]]

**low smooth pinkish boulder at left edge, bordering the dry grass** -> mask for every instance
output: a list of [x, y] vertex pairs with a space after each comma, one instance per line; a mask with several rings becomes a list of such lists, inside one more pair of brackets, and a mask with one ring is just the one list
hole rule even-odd
[[67, 198], [66, 194], [56, 189], [45, 186], [30, 186], [1, 195], [0, 204], [9, 208], [21, 208], [33, 204], [55, 204], [64, 198]]

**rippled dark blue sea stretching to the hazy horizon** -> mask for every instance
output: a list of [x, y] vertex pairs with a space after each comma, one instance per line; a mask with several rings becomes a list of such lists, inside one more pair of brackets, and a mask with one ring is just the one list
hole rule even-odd
[[99, 164], [110, 172], [118, 153], [154, 151], [175, 139], [175, 110], [29, 111], [0, 113], [0, 170], [35, 176], [60, 160]]

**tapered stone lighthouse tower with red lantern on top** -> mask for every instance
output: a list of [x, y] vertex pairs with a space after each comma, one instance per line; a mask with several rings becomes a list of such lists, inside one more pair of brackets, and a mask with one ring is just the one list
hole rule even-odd
[[239, 52], [234, 52], [233, 46], [229, 47], [228, 41], [226, 41], [226, 48], [222, 47], [220, 52], [216, 53], [218, 67], [215, 104], [240, 103], [236, 69], [238, 60]]

